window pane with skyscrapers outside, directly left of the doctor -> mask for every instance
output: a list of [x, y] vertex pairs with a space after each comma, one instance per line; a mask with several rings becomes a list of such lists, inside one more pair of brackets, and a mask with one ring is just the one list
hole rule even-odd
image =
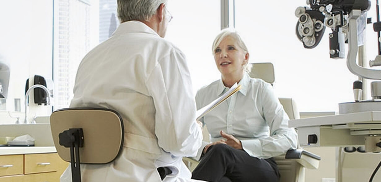
[[[69, 107], [78, 65], [119, 25], [117, 0], [54, 0], [54, 110]], [[90, 31], [91, 30], [91, 31]]]

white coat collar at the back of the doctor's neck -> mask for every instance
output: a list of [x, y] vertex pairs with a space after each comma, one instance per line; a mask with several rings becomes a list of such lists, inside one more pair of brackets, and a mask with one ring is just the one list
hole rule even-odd
[[112, 35], [131, 33], [131, 32], [140, 32], [140, 33], [154, 34], [159, 36], [155, 32], [155, 30], [151, 29], [149, 26], [147, 26], [143, 22], [135, 21], [135, 20], [121, 23]]

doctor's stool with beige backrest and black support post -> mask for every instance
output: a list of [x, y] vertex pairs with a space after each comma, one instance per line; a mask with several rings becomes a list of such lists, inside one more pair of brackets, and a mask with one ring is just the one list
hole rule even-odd
[[80, 164], [106, 164], [123, 147], [120, 115], [110, 109], [67, 108], [50, 115], [50, 128], [58, 155], [71, 163], [72, 182], [81, 181]]

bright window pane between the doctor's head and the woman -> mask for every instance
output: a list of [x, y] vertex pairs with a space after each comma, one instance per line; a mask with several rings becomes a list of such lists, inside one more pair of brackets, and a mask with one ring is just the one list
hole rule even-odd
[[221, 78], [211, 50], [213, 40], [220, 31], [220, 4], [220, 0], [168, 3], [167, 9], [173, 19], [165, 38], [185, 54], [194, 94], [202, 86]]

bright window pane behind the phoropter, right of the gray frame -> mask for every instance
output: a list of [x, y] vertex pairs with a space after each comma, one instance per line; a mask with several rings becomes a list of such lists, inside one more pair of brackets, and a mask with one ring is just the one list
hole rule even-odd
[[[298, 6], [307, 5], [305, 1], [259, 4], [237, 0], [235, 28], [243, 34], [250, 62], [274, 64], [274, 88], [279, 97], [295, 98], [299, 111], [338, 111], [338, 103], [354, 101], [352, 84], [358, 77], [348, 70], [346, 59], [329, 58], [329, 28], [316, 48], [303, 48], [295, 35], [298, 18], [294, 12]], [[375, 7], [371, 8], [368, 17], [375, 15]], [[367, 59], [374, 59], [377, 53], [372, 32], [371, 25], [367, 26], [367, 52], [372, 55]]]

